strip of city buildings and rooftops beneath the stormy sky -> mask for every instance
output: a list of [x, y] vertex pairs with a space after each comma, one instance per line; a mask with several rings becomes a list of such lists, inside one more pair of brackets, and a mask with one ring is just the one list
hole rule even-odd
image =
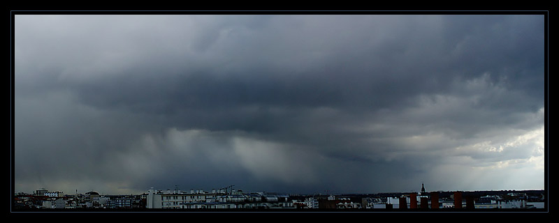
[[[225, 187], [203, 190], [154, 190], [143, 194], [63, 194], [37, 190], [33, 194], [17, 193], [13, 208], [22, 211], [266, 211], [286, 210], [357, 210], [377, 211], [542, 211], [546, 208], [544, 190], [479, 191], [479, 192], [400, 192], [379, 194], [284, 194], [275, 192], [245, 192]], [[476, 210], [473, 210], [476, 209]], [[539, 209], [539, 210], [537, 210]]]

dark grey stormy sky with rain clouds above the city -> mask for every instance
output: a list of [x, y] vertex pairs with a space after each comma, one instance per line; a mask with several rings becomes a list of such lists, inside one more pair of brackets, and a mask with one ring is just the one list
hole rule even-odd
[[15, 192], [544, 189], [544, 15], [15, 15]]

